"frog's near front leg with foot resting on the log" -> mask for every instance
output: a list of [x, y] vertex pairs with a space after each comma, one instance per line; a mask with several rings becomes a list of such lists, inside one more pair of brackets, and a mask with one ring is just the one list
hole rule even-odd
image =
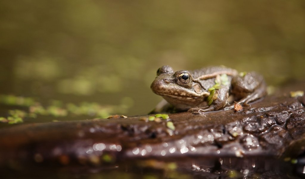
[[191, 108], [188, 111], [192, 111], [194, 114], [200, 114], [203, 112], [216, 111], [224, 108], [228, 104], [228, 91], [230, 86], [224, 86], [221, 89], [215, 91], [213, 101], [210, 105], [207, 102], [203, 102], [196, 108]]

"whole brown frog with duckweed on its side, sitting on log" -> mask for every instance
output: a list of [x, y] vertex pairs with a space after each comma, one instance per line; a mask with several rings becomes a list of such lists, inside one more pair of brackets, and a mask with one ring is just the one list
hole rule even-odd
[[249, 106], [267, 94], [262, 75], [241, 72], [225, 66], [211, 66], [194, 71], [175, 71], [168, 65], [157, 70], [151, 90], [166, 100], [158, 111], [172, 105], [176, 111], [201, 114], [234, 108], [233, 102]]

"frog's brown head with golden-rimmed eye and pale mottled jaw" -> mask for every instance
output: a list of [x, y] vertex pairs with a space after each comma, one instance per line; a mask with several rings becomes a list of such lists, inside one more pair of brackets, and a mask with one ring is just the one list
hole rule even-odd
[[154, 93], [162, 96], [179, 109], [196, 106], [210, 94], [198, 83], [193, 82], [189, 71], [179, 70], [174, 72], [173, 68], [167, 65], [158, 69], [157, 77], [150, 88]]

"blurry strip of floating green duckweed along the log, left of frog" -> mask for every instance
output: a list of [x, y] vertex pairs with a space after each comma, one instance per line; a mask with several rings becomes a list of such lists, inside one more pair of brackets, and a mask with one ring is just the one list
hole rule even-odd
[[[51, 100], [48, 105], [43, 106], [38, 101], [29, 97], [18, 97], [14, 95], [0, 95], [0, 105], [11, 107], [23, 107], [23, 110], [9, 110], [5, 117], [0, 116], [0, 122], [15, 124], [31, 122], [31, 118], [40, 116], [52, 116], [52, 121], [59, 121], [59, 117], [87, 116], [90, 118], [107, 118], [110, 114], [126, 113], [133, 105], [133, 100], [125, 97], [116, 106], [102, 106], [97, 103], [82, 102], [79, 105], [73, 103], [63, 104], [60, 100]], [[26, 107], [26, 108], [25, 108]], [[56, 119], [55, 119], [56, 118]], [[67, 119], [63, 119], [67, 120]], [[40, 122], [48, 122], [41, 120]]]

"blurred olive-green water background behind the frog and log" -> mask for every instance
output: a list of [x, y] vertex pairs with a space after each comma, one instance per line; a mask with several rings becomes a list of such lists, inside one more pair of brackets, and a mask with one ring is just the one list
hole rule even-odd
[[109, 109], [97, 117], [147, 114], [162, 65], [226, 65], [278, 85], [304, 79], [304, 57], [303, 0], [0, 2], [0, 94]]

